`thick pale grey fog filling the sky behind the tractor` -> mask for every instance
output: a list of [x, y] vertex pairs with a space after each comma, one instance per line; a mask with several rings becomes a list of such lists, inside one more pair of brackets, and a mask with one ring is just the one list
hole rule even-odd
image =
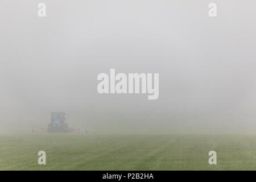
[[[256, 133], [255, 6], [1, 0], [0, 133], [47, 127], [51, 111], [97, 134]], [[99, 94], [110, 68], [159, 73], [159, 98]]]

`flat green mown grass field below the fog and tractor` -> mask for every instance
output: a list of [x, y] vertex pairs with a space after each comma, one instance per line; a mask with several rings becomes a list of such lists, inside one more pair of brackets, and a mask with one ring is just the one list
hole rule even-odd
[[[217, 165], [208, 164], [211, 150]], [[255, 169], [256, 135], [0, 135], [0, 170]]]

